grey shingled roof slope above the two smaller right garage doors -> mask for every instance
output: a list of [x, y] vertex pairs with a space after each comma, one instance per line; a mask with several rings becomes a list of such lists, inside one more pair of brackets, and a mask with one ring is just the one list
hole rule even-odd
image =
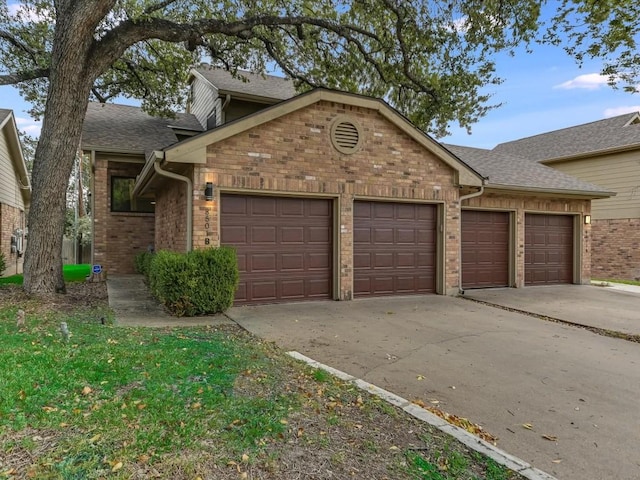
[[481, 148], [445, 145], [452, 153], [487, 178], [487, 188], [586, 195], [592, 198], [615, 195], [559, 170], [517, 155]]

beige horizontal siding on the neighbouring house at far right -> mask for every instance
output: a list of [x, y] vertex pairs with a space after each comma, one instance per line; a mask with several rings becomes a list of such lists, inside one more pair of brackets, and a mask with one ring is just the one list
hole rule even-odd
[[617, 193], [593, 201], [594, 220], [640, 218], [640, 150], [549, 166]]

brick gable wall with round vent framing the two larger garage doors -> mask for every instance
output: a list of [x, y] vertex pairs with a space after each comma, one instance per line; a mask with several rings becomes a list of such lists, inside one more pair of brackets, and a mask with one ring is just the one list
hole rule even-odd
[[[341, 115], [362, 127], [362, 148], [352, 155], [339, 153], [330, 141], [331, 123]], [[354, 199], [438, 203], [445, 210], [442, 290], [457, 291], [460, 209], [454, 172], [377, 112], [319, 102], [210, 145], [207, 164], [197, 165], [194, 175], [195, 248], [204, 247], [205, 239], [219, 243], [219, 201], [204, 201], [206, 182], [216, 185], [218, 199], [220, 191], [238, 190], [337, 199], [341, 299], [352, 297]]]

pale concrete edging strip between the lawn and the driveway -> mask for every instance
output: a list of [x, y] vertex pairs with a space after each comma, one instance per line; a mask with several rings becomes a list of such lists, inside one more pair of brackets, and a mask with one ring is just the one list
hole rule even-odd
[[380, 388], [372, 383], [365, 382], [360, 378], [356, 378], [348, 373], [337, 370], [333, 367], [325, 365], [323, 363], [317, 362], [312, 358], [309, 358], [300, 352], [290, 351], [287, 354], [296, 360], [300, 360], [301, 362], [306, 363], [310, 367], [324, 370], [331, 375], [352, 383], [357, 386], [359, 389], [370, 393], [371, 395], [375, 395], [376, 397], [390, 403], [391, 405], [395, 405], [398, 408], [401, 408], [409, 415], [421, 420], [423, 422], [428, 423], [436, 427], [441, 432], [444, 432], [448, 435], [453, 436], [456, 440], [466, 445], [471, 450], [475, 450], [489, 458], [493, 461], [499, 463], [500, 465], [504, 465], [505, 467], [513, 470], [514, 472], [519, 473], [523, 477], [529, 480], [557, 480], [556, 477], [549, 475], [542, 470], [539, 470], [532, 465], [528, 464], [524, 460], [514, 457], [513, 455], [508, 454], [504, 450], [501, 450], [488, 442], [472, 435], [466, 430], [457, 427], [455, 425], [451, 425], [446, 422], [442, 418], [434, 415], [433, 413], [421, 408], [418, 405], [411, 403], [409, 400], [402, 398], [395, 393], [391, 393], [383, 388]]

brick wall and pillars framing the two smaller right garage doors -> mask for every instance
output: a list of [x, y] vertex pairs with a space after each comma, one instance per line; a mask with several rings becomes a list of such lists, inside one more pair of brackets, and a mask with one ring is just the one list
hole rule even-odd
[[[522, 195], [503, 195], [485, 193], [480, 197], [466, 200], [465, 207], [498, 209], [515, 212], [516, 218], [516, 286], [524, 286], [524, 216], [531, 213], [566, 213], [573, 215], [587, 215], [591, 211], [590, 200], [571, 200], [552, 197], [535, 197]], [[581, 225], [582, 235], [582, 275], [578, 283], [588, 283], [591, 277], [591, 228]]]

